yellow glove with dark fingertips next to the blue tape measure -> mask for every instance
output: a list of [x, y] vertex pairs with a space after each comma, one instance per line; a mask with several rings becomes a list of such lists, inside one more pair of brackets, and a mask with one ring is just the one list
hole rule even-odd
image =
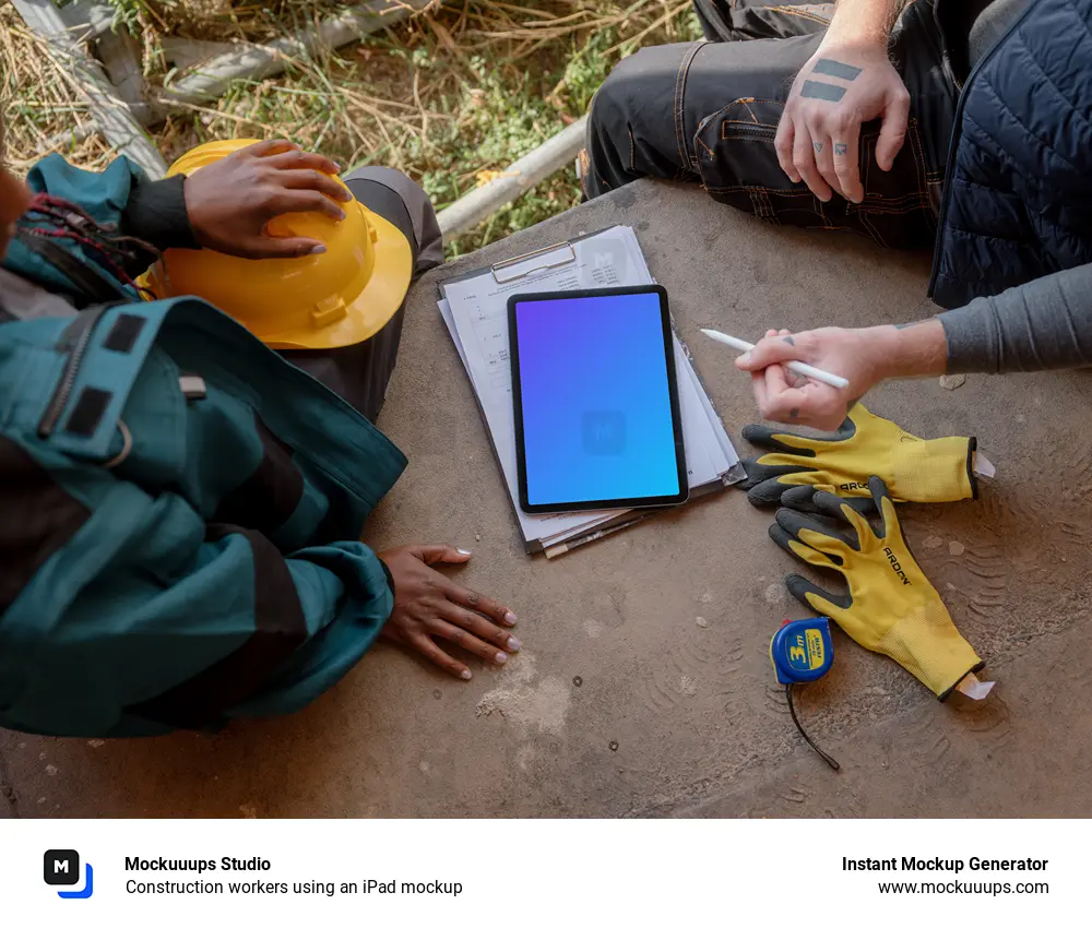
[[883, 481], [871, 477], [868, 487], [883, 520], [880, 534], [845, 500], [823, 490], [812, 497], [812, 511], [848, 523], [848, 532], [794, 509], [778, 510], [770, 537], [802, 561], [838, 571], [850, 588], [836, 596], [795, 573], [785, 584], [862, 647], [894, 658], [945, 699], [982, 661], [910, 554]]

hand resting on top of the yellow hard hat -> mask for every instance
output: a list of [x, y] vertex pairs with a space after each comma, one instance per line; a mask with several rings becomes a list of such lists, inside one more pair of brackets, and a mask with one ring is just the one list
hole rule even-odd
[[300, 258], [324, 251], [313, 238], [277, 238], [265, 228], [285, 213], [324, 213], [344, 219], [337, 201], [353, 199], [330, 175], [330, 158], [290, 142], [258, 142], [186, 178], [186, 211], [202, 248], [239, 258]]

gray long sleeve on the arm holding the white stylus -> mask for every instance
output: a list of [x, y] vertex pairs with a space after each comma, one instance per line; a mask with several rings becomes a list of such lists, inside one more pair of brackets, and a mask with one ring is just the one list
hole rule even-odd
[[937, 318], [948, 342], [949, 373], [1092, 366], [1092, 264], [980, 297]]

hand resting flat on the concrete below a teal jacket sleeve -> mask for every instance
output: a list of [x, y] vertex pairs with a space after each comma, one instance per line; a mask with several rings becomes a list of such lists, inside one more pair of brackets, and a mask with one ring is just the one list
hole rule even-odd
[[434, 639], [458, 644], [490, 664], [503, 664], [509, 652], [520, 650], [520, 640], [506, 628], [515, 624], [508, 606], [466, 590], [431, 568], [466, 563], [470, 551], [447, 545], [406, 545], [379, 557], [394, 578], [394, 611], [383, 627], [384, 638], [413, 649], [464, 680], [472, 676], [470, 668]]

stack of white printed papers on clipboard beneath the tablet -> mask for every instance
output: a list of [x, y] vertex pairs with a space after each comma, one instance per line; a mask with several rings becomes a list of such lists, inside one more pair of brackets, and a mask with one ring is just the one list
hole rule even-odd
[[[529, 552], [544, 550], [547, 556], [563, 552], [644, 517], [650, 510], [529, 515], [520, 509], [508, 360], [508, 298], [519, 293], [652, 283], [633, 229], [614, 226], [556, 249], [527, 255], [525, 261], [506, 262], [502, 270], [498, 265], [440, 285], [443, 296], [438, 304], [440, 313], [477, 395]], [[675, 365], [687, 473], [690, 495], [695, 497], [743, 479], [744, 474], [689, 353], [677, 335]]]

